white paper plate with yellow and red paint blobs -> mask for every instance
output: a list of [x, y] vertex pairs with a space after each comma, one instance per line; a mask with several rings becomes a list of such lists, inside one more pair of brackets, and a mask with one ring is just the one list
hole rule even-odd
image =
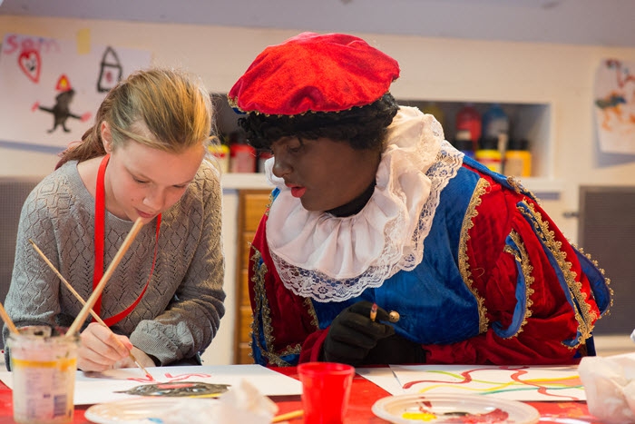
[[523, 402], [480, 395], [426, 395], [425, 393], [389, 396], [373, 405], [373, 413], [396, 424], [465, 423], [534, 424], [540, 419], [537, 409]]

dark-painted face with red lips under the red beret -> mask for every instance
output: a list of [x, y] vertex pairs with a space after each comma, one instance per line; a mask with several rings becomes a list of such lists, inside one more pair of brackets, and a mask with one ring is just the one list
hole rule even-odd
[[375, 181], [381, 153], [355, 150], [328, 138], [282, 137], [271, 145], [273, 173], [283, 178], [308, 211], [330, 211], [352, 202]]

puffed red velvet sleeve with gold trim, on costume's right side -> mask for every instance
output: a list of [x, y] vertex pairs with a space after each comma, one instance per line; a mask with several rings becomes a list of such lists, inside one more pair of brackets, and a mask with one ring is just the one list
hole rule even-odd
[[562, 364], [600, 311], [572, 245], [531, 198], [485, 179], [464, 221], [464, 281], [481, 301], [480, 335], [425, 345], [428, 363]]

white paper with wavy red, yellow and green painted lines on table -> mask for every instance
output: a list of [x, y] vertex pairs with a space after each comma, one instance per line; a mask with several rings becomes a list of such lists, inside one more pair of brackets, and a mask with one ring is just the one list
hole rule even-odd
[[394, 395], [478, 394], [523, 401], [586, 399], [577, 367], [391, 365], [389, 369], [357, 372]]

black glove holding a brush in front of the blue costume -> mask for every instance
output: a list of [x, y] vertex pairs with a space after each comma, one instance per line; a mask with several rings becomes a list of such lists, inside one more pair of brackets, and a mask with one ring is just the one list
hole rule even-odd
[[[379, 340], [393, 336], [392, 326], [377, 322], [387, 321], [388, 313], [377, 308], [376, 321], [370, 319], [369, 301], [358, 301], [339, 312], [328, 329], [323, 346], [323, 359], [349, 365], [366, 363], [368, 352], [376, 348]], [[381, 362], [388, 363], [388, 362]]]

